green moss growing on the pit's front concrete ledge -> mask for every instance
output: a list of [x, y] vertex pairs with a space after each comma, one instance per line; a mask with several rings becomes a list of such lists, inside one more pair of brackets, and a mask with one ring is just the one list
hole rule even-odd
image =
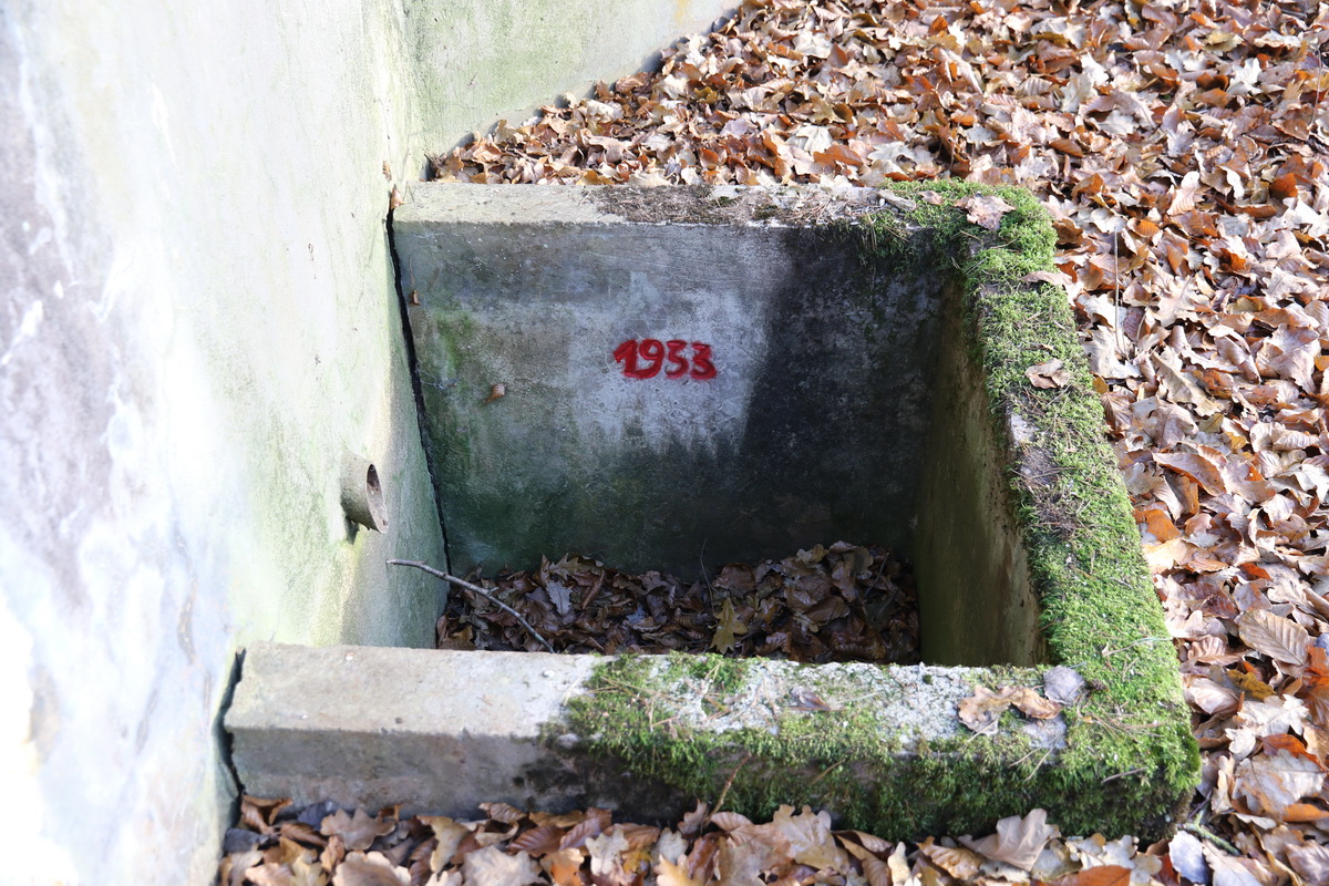
[[[1148, 834], [1162, 830], [1174, 812], [1172, 797], [1156, 790], [1155, 780], [1170, 774], [1166, 769], [1115, 778], [1122, 784], [1111, 789], [1102, 780], [1134, 769], [1138, 760], [1166, 758], [1168, 743], [1187, 739], [1183, 735], [1164, 735], [1162, 743], [1099, 744], [1088, 756], [1078, 754], [1073, 741], [1058, 754], [1034, 744], [1010, 713], [997, 736], [965, 733], [917, 743], [885, 732], [870, 703], [785, 711], [771, 729], [716, 731], [690, 720], [683, 708], [692, 704], [710, 719], [735, 704], [731, 692], [696, 683], [696, 675], [706, 673], [696, 662], [711, 669], [727, 663], [718, 656], [678, 660], [687, 658], [672, 656], [664, 664], [650, 658], [606, 662], [590, 692], [571, 701], [571, 731], [597, 757], [625, 761], [634, 778], [668, 784], [712, 805], [723, 797], [723, 808], [756, 818], [769, 817], [783, 804], [825, 808], [844, 826], [890, 840], [978, 833], [1035, 806], [1049, 809], [1067, 833]], [[1038, 675], [1018, 669], [1006, 677], [1001, 683], [1010, 685], [1035, 681]], [[833, 684], [823, 687], [827, 696], [832, 689]], [[696, 696], [699, 691], [704, 697]], [[1120, 724], [1102, 729], [1112, 732]], [[1152, 756], [1120, 756], [1140, 753]], [[1104, 754], [1120, 756], [1120, 768], [1107, 776]], [[1123, 806], [1120, 798], [1131, 794], [1135, 802]]]

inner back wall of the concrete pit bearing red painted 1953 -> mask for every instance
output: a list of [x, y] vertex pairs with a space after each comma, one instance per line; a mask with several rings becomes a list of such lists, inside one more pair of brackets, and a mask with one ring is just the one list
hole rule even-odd
[[[870, 193], [816, 199], [413, 189], [395, 234], [455, 570], [908, 545], [941, 280], [824, 223]], [[679, 360], [627, 377], [630, 340]]]

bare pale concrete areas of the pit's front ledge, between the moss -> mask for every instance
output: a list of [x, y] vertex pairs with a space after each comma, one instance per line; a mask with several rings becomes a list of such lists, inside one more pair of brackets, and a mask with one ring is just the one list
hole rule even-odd
[[[593, 753], [593, 736], [567, 732], [567, 705], [587, 692], [595, 667], [611, 660], [258, 643], [246, 652], [226, 728], [246, 788], [296, 804], [332, 800], [376, 809], [400, 802], [408, 814], [457, 817], [492, 801], [541, 810], [594, 805], [631, 821], [676, 821], [695, 798], [615, 768]], [[912, 765], [920, 743], [962, 732], [956, 705], [973, 693], [973, 677], [981, 673], [754, 659], [742, 687], [712, 699], [704, 680], [666, 677], [668, 658], [647, 660], [661, 673], [650, 701], [659, 705], [661, 721], [672, 717], [683, 731], [720, 736], [776, 735], [784, 717], [807, 716], [799, 708], [803, 699], [821, 692], [829, 704], [844, 705], [837, 717], [855, 715], [856, 705], [870, 709], [881, 745], [896, 749], [901, 768]], [[835, 692], [825, 688], [831, 681], [839, 685]], [[707, 707], [715, 700], [723, 701], [723, 716]], [[1063, 747], [1059, 719], [1018, 729], [1049, 753]], [[978, 744], [975, 753], [983, 749]], [[813, 782], [820, 766], [805, 765], [805, 780]], [[870, 782], [863, 789], [872, 790]], [[815, 796], [787, 798], [804, 800]]]

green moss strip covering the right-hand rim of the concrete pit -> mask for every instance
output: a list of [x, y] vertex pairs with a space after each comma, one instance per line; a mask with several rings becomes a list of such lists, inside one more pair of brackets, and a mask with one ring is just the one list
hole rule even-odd
[[[1103, 436], [1102, 405], [1074, 317], [1061, 290], [1025, 279], [1055, 270], [1055, 235], [1047, 215], [1019, 189], [910, 182], [892, 190], [916, 198], [918, 209], [905, 217], [906, 227], [929, 227], [945, 242], [946, 252], [965, 256], [957, 260], [957, 271], [966, 292], [966, 332], [985, 373], [993, 421], [1002, 425], [1013, 412], [1022, 416], [1035, 429], [1034, 448], [1050, 462], [1039, 472], [1049, 480], [1033, 482], [1021, 476], [1017, 460], [1009, 481], [1026, 527], [1049, 651], [1055, 663], [1075, 667], [1102, 687], [1067, 717], [1069, 749], [1061, 754], [1054, 781], [1090, 796], [1061, 821], [1067, 828], [1112, 830], [1127, 828], [1130, 816], [1140, 813], [1162, 820], [1189, 797], [1199, 752], [1175, 651]], [[1015, 209], [998, 231], [985, 231], [960, 210], [918, 199], [925, 190], [954, 198], [993, 194]], [[874, 227], [897, 234], [893, 239], [878, 235], [877, 248], [900, 248], [898, 217], [874, 219]], [[1033, 387], [1025, 371], [1053, 359], [1071, 372], [1070, 384]], [[998, 433], [1005, 437], [1003, 428]], [[1152, 764], [1140, 773], [1148, 780], [1140, 802], [1147, 805], [1154, 797], [1154, 808], [1114, 814], [1110, 794], [1122, 794], [1130, 785], [1123, 777], [1112, 790], [1103, 790], [1095, 780], [1116, 774], [1100, 774], [1112, 766], [1127, 772], [1140, 762]]]

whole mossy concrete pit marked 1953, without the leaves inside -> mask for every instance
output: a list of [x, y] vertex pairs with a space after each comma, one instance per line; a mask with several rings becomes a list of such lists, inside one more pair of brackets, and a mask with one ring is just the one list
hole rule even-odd
[[[670, 820], [724, 789], [898, 837], [1038, 805], [1170, 826], [1197, 753], [1027, 195], [424, 185], [393, 228], [453, 573], [888, 545], [928, 664], [256, 647], [227, 716], [251, 792]], [[975, 687], [1053, 665], [1091, 691], [961, 725]]]

